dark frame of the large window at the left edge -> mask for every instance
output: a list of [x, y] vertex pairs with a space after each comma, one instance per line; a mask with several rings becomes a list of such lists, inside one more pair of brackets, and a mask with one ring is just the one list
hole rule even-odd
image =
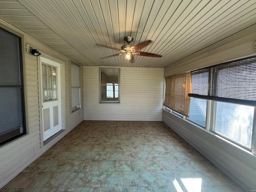
[[21, 117], [22, 117], [22, 126], [23, 126], [23, 132], [20, 134], [17, 134], [15, 136], [12, 136], [11, 138], [8, 138], [7, 140], [4, 140], [3, 142], [0, 141], [0, 147], [11, 143], [15, 140], [17, 140], [18, 138], [21, 138], [22, 136], [25, 136], [28, 134], [28, 130], [27, 130], [27, 116], [26, 116], [26, 96], [25, 96], [25, 78], [24, 78], [24, 38], [22, 34], [17, 34], [16, 32], [12, 31], [12, 30], [7, 30], [5, 29], [3, 26], [0, 26], [0, 28], [14, 36], [16, 36], [18, 38], [18, 46], [16, 48], [19, 48], [19, 60], [20, 60], [20, 86], [0, 86], [2, 88], [20, 88], [20, 100], [21, 100]]

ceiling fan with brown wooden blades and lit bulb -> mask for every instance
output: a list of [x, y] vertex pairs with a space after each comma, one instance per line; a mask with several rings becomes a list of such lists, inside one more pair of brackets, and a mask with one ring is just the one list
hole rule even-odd
[[[121, 49], [114, 48], [114, 47], [109, 47], [109, 46], [104, 46], [104, 45], [100, 45], [100, 44], [96, 44], [96, 45], [102, 46], [102, 47], [106, 47], [106, 48], [110, 48], [110, 49], [114, 49], [114, 50], [118, 50], [118, 51], [122, 52], [122, 53], [119, 53], [119, 54], [110, 55], [110, 56], [103, 57], [103, 58], [109, 58], [109, 57], [114, 57], [114, 56], [118, 56], [118, 55], [125, 55], [126, 58], [131, 63], [133, 63], [134, 62], [134, 55], [147, 56], [147, 57], [162, 57], [162, 55], [139, 51], [140, 49], [142, 49], [145, 46], [147, 46], [148, 44], [150, 44], [152, 42], [152, 40], [146, 40], [145, 42], [142, 42], [142, 43], [137, 44], [137, 45], [130, 45], [130, 42], [133, 41], [133, 37], [131, 37], [131, 36], [126, 36], [124, 38], [124, 40], [128, 44], [127, 45], [123, 45], [121, 47]], [[103, 59], [103, 58], [101, 58], [101, 59]]]

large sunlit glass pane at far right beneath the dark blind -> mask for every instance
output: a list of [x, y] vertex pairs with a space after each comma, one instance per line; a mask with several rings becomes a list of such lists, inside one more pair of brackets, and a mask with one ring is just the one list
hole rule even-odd
[[250, 147], [253, 113], [252, 106], [217, 102], [215, 131]]

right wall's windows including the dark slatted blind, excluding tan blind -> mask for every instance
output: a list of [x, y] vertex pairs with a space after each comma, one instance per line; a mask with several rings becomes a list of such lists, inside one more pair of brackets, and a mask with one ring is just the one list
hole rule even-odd
[[255, 56], [192, 71], [186, 119], [255, 154], [255, 74]]

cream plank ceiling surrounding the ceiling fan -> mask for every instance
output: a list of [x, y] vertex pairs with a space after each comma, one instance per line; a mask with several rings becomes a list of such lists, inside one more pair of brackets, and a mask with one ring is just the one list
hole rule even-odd
[[[255, 0], [0, 0], [0, 19], [88, 66], [166, 67], [256, 23]], [[120, 48], [153, 43], [124, 55]]]

